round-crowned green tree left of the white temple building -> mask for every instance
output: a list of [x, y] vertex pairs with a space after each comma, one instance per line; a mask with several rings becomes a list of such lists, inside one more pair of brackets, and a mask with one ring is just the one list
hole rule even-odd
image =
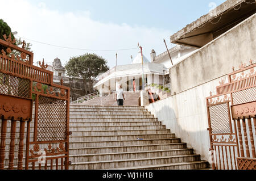
[[98, 74], [109, 70], [108, 61], [97, 54], [86, 53], [82, 56], [72, 57], [65, 65], [67, 75], [72, 78], [81, 78], [85, 83], [87, 94], [87, 82], [89, 83], [89, 92], [91, 93], [93, 82]]

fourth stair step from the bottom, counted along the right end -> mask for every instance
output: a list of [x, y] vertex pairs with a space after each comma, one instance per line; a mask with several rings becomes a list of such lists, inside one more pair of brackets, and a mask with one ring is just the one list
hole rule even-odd
[[100, 154], [100, 153], [120, 153], [132, 151], [149, 151], [149, 150], [170, 150], [170, 149], [185, 149], [187, 144], [152, 144], [152, 145], [129, 145], [129, 146], [102, 146], [91, 148], [69, 148], [71, 155], [75, 154]]

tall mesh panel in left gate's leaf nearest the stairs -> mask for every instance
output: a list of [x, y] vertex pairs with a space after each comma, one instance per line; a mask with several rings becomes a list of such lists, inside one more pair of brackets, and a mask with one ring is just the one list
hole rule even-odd
[[39, 96], [37, 141], [65, 140], [66, 100]]

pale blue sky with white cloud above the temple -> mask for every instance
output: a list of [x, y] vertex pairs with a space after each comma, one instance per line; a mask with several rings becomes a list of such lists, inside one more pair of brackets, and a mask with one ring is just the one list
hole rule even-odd
[[[34, 64], [58, 57], [63, 65], [74, 56], [96, 53], [110, 68], [131, 64], [138, 43], [150, 60], [166, 51], [170, 36], [225, 0], [0, 0], [0, 11], [16, 37], [32, 44]], [[43, 44], [42, 44], [43, 43]], [[59, 47], [55, 47], [56, 45]], [[65, 47], [65, 48], [60, 48]], [[123, 50], [125, 49], [125, 50]], [[129, 49], [129, 50], [127, 50]]]

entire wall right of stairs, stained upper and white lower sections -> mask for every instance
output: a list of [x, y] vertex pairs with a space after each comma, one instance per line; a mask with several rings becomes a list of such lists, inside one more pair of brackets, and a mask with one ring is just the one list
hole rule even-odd
[[[146, 106], [167, 128], [204, 160], [209, 159], [205, 98], [221, 78], [228, 82], [232, 66], [256, 59], [256, 15], [238, 24], [170, 69], [172, 96]], [[176, 92], [174, 95], [173, 93]]]

